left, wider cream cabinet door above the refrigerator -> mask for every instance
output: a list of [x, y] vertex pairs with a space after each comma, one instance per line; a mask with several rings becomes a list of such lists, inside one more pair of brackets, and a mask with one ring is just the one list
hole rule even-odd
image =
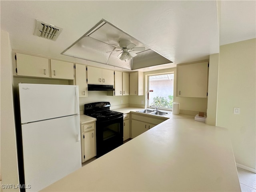
[[47, 58], [16, 53], [17, 75], [49, 78]]

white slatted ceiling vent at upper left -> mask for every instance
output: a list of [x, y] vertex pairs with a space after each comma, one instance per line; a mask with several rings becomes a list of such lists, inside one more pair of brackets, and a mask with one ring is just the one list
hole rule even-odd
[[62, 28], [42, 22], [40, 20], [36, 20], [36, 26], [34, 30], [34, 35], [36, 36], [55, 41], [61, 32]]

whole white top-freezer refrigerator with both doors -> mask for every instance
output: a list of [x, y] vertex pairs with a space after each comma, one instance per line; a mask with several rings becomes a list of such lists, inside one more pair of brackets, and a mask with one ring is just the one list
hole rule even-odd
[[[19, 84], [26, 191], [39, 191], [81, 167], [78, 86]], [[20, 161], [19, 161], [20, 162]]]

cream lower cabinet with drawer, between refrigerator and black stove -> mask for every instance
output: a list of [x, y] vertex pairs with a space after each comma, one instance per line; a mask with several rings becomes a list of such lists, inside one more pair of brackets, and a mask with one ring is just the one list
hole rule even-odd
[[81, 124], [82, 163], [96, 156], [95, 122]]

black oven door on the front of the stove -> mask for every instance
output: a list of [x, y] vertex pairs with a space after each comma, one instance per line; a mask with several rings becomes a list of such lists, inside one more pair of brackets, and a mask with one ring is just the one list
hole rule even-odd
[[96, 155], [100, 157], [123, 144], [123, 116], [96, 121]]

